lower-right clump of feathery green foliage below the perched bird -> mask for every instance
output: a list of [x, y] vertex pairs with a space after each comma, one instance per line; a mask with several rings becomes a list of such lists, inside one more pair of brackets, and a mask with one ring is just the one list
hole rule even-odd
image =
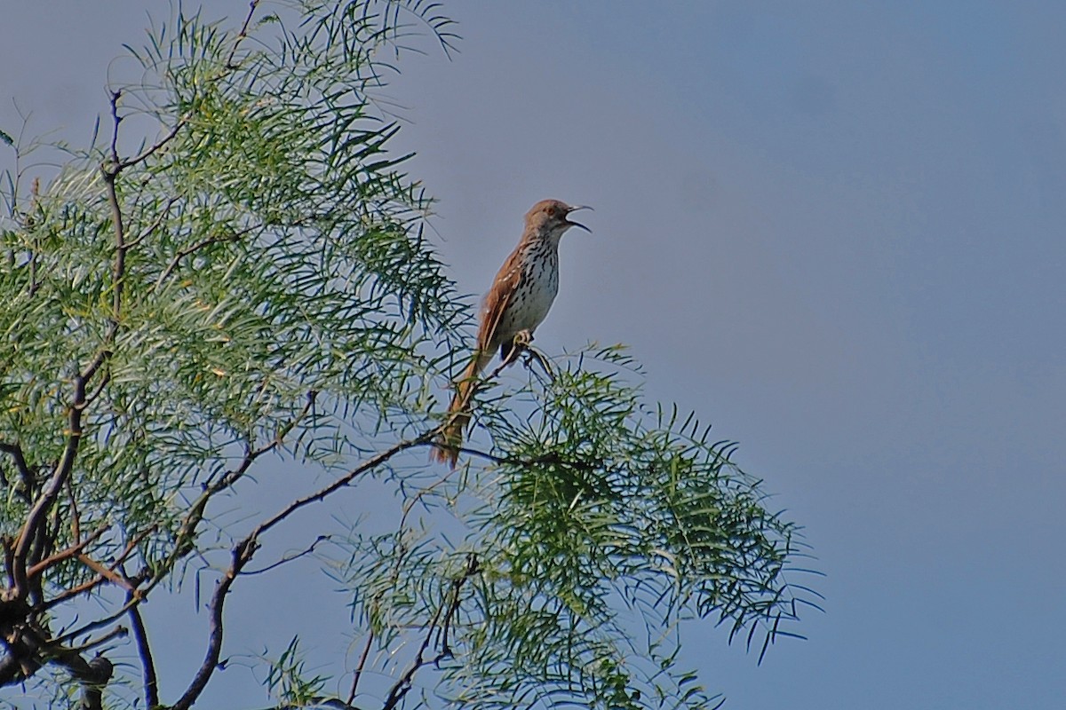
[[479, 402], [490, 477], [413, 486], [394, 533], [353, 527], [339, 578], [382, 648], [436, 634], [437, 692], [463, 707], [716, 707], [677, 667], [682, 628], [711, 620], [760, 654], [794, 635], [782, 622], [817, 596], [786, 580], [795, 526], [733, 444], [642, 409], [618, 348], [556, 367]]

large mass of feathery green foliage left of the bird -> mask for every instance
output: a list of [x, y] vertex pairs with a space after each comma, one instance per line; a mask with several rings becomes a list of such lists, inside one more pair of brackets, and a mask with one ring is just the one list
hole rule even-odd
[[[120, 313], [98, 167], [107, 139], [3, 232], [6, 437], [42, 465], [55, 460], [63, 380], [109, 353], [75, 473], [88, 495], [83, 527], [106, 517], [131, 535], [156, 528], [145, 544], [168, 549], [181, 494], [217, 480], [232, 456], [292, 426], [298, 456], [332, 460], [352, 450], [349, 417], [385, 426], [431, 401], [435, 363], [419, 345], [466, 316], [422, 238], [429, 201], [402, 159], [383, 156], [397, 128], [368, 114], [376, 80], [358, 75], [372, 55], [338, 44], [344, 16], [304, 21], [318, 22], [317, 39], [272, 22], [286, 51], [239, 52], [236, 64], [232, 34], [198, 17], [179, 15], [131, 50], [159, 84], [118, 89], [119, 115], [155, 100], [161, 132], [179, 130], [116, 183], [128, 243]], [[293, 425], [312, 391], [317, 416]], [[147, 480], [145, 495], [129, 495]], [[5, 533], [25, 503], [13, 501]]]

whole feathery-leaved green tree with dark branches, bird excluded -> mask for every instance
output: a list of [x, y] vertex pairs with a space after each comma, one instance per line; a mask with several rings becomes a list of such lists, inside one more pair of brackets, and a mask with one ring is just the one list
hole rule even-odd
[[[190, 708], [240, 648], [242, 591], [313, 560], [351, 627], [311, 644], [323, 674], [306, 638], [266, 649], [278, 707], [716, 705], [680, 629], [792, 635], [817, 596], [786, 581], [796, 528], [732, 443], [642, 403], [618, 347], [489, 374], [463, 465], [429, 465], [470, 316], [375, 89], [452, 24], [422, 0], [264, 4], [178, 5], [58, 171], [0, 134], [0, 692]], [[345, 519], [295, 523], [338, 498]], [[182, 674], [145, 605], [190, 596]]]

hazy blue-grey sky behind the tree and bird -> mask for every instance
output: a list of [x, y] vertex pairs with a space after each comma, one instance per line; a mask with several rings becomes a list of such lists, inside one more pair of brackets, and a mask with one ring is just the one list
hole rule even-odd
[[[0, 129], [14, 96], [87, 139], [152, 4], [0, 0]], [[706, 684], [729, 708], [1063, 707], [1066, 3], [445, 6], [459, 53], [406, 56], [387, 94], [461, 287], [534, 201], [594, 205], [538, 345], [630, 344], [827, 575], [809, 640], [761, 666], [691, 628]]]

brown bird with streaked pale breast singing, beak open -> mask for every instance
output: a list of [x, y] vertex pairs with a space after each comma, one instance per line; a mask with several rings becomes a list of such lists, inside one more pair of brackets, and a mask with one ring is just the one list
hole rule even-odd
[[518, 354], [516, 348], [533, 340], [533, 331], [548, 315], [559, 291], [559, 241], [571, 227], [589, 232], [587, 227], [569, 221], [575, 210], [559, 200], [540, 200], [526, 213], [526, 230], [492, 281], [481, 307], [478, 347], [463, 377], [455, 381], [455, 396], [448, 408], [450, 419], [436, 441], [432, 457], [453, 468], [463, 444], [463, 431], [470, 422], [470, 398], [478, 375], [497, 349], [504, 363]]

